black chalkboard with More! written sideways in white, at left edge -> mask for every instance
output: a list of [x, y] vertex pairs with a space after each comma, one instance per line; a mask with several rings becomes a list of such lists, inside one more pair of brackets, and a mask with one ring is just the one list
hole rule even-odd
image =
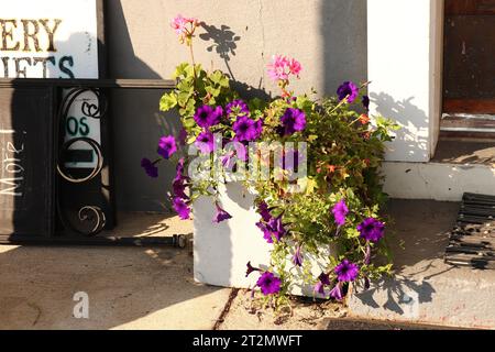
[[0, 90], [0, 234], [54, 229], [53, 89]]

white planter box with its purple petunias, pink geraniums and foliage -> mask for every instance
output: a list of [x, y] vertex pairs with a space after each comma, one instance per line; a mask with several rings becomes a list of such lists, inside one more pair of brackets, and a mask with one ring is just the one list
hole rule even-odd
[[156, 163], [177, 158], [172, 205], [182, 219], [194, 213], [195, 278], [280, 306], [288, 294], [341, 300], [351, 284], [389, 273], [380, 166], [397, 127], [369, 118], [366, 84], [296, 96], [289, 84], [302, 67], [276, 55], [267, 72], [279, 97], [246, 100], [229, 76], [195, 63], [199, 22], [179, 15], [172, 25], [191, 63], [177, 66], [160, 106], [178, 110], [188, 151], [178, 157], [176, 138], [164, 136], [162, 158], [142, 166], [157, 177]]

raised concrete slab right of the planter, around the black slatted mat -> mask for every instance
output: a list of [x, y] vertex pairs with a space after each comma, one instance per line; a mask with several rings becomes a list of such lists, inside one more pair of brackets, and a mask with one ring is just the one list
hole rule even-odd
[[[443, 262], [457, 202], [396, 200], [388, 230], [396, 275], [348, 300], [350, 316], [461, 328], [495, 329], [495, 271]], [[393, 238], [395, 232], [395, 239]], [[405, 250], [399, 249], [404, 241]]]

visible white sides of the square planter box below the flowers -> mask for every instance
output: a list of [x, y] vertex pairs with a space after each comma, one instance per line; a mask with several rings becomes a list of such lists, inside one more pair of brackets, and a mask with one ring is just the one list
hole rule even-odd
[[[215, 205], [210, 198], [202, 197], [194, 205], [195, 279], [215, 286], [252, 288], [260, 275], [253, 273], [246, 278], [246, 264], [251, 261], [253, 266], [266, 268], [273, 245], [255, 224], [261, 217], [253, 205], [254, 195], [244, 191], [241, 183], [222, 186], [220, 195], [222, 208], [232, 216], [228, 221], [212, 223]], [[308, 260], [318, 277], [326, 264], [305, 256]], [[312, 285], [296, 283], [292, 294], [312, 297]]]

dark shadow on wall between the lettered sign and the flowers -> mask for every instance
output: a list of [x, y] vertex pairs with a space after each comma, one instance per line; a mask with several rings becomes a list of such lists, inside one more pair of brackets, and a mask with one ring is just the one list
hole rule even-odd
[[[106, 33], [110, 77], [164, 78], [135, 55], [121, 1], [107, 1], [107, 13], [111, 13], [107, 16]], [[160, 180], [150, 179], [140, 166], [143, 156], [157, 157], [161, 136], [178, 135], [180, 131], [178, 116], [158, 109], [163, 94], [162, 90], [112, 92], [117, 205], [122, 211], [170, 211], [167, 191], [175, 165], [160, 163]]]

